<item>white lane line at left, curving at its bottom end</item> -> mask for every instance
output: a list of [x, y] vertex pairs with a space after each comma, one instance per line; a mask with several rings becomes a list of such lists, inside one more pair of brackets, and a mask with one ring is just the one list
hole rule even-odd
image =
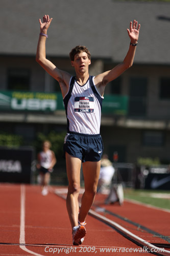
[[19, 247], [23, 251], [27, 251], [36, 256], [43, 256], [34, 251], [26, 248], [25, 244], [25, 216], [26, 216], [26, 187], [25, 185], [20, 186], [20, 237], [19, 237]]

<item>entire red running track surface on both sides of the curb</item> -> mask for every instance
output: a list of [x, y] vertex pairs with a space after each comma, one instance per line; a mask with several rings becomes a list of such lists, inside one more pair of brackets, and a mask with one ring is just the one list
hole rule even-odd
[[[83, 245], [72, 246], [65, 200], [53, 192], [41, 196], [39, 186], [0, 184], [0, 202], [0, 255], [142, 255], [141, 252], [125, 252], [126, 249], [141, 250], [141, 247], [91, 216], [86, 220], [87, 234]], [[97, 195], [94, 204], [98, 202]], [[100, 206], [168, 236], [168, 212], [128, 202], [123, 206]], [[167, 243], [116, 217], [108, 214], [106, 217], [143, 239]], [[117, 252], [101, 252], [104, 248], [117, 249]]]

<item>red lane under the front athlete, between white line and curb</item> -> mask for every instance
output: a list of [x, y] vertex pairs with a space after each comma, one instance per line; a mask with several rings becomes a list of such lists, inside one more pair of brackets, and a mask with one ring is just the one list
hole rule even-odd
[[[34, 248], [35, 252], [43, 253], [47, 245], [50, 248], [64, 248], [74, 247], [72, 246], [71, 239], [71, 228], [67, 216], [65, 200], [59, 198], [55, 194], [49, 194], [47, 197], [42, 197], [40, 195], [40, 190], [38, 187], [27, 186], [26, 189], [26, 241], [29, 244], [41, 244], [41, 248]], [[32, 198], [34, 197], [34, 200]], [[32, 211], [31, 209], [34, 209]], [[29, 218], [27, 218], [29, 216]], [[50, 216], [50, 218], [49, 218]], [[35, 228], [36, 227], [36, 228]], [[87, 217], [87, 235], [83, 243], [83, 247], [93, 247], [95, 246], [98, 254], [100, 253], [100, 248], [127, 248], [137, 247], [132, 242], [123, 238], [114, 229], [105, 225], [104, 223], [95, 220], [94, 218]], [[125, 240], [122, 242], [122, 238]], [[80, 247], [77, 247], [76, 255], [81, 254], [79, 252]], [[49, 252], [48, 252], [49, 253]], [[70, 252], [74, 253], [74, 252]], [[90, 255], [94, 253], [83, 252], [83, 255]], [[101, 254], [101, 253], [100, 253]], [[103, 253], [102, 253], [103, 254]], [[112, 253], [111, 253], [112, 254]], [[107, 252], [107, 255], [111, 255]], [[81, 254], [82, 255], [82, 254]], [[116, 255], [116, 254], [115, 254]], [[118, 254], [120, 255], [120, 253]], [[130, 255], [130, 254], [129, 254]], [[133, 254], [134, 255], [134, 254]], [[136, 254], [137, 255], [137, 254]]]

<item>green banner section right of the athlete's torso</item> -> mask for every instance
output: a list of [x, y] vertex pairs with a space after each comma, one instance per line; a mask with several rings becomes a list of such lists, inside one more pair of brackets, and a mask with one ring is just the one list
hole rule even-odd
[[102, 104], [102, 113], [105, 115], [127, 115], [128, 97], [119, 95], [105, 95]]

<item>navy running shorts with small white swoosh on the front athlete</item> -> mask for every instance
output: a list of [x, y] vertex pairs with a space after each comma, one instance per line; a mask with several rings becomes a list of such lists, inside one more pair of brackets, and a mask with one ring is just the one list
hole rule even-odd
[[64, 139], [64, 154], [67, 152], [82, 162], [98, 162], [103, 154], [103, 141], [100, 134], [88, 135], [70, 132]]

